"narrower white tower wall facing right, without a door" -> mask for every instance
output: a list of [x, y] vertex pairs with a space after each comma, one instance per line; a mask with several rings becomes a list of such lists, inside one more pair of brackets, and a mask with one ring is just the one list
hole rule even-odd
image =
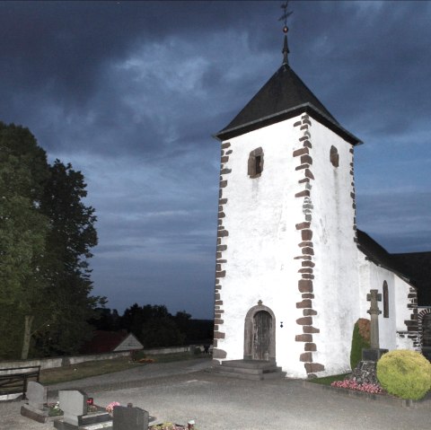
[[[312, 120], [312, 231], [314, 245], [315, 361], [325, 365], [323, 374], [348, 371], [352, 331], [359, 315], [359, 276], [356, 265], [355, 208], [350, 173], [352, 145]], [[337, 148], [339, 167], [330, 162], [331, 146]]]

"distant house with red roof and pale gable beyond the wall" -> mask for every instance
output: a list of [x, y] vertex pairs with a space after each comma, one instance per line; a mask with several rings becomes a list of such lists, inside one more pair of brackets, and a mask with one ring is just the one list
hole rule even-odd
[[91, 340], [85, 342], [81, 354], [103, 354], [143, 349], [144, 345], [127, 330], [95, 330]]

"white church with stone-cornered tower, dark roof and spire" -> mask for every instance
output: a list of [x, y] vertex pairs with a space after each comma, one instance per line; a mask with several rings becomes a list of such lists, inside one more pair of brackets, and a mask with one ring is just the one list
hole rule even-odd
[[350, 370], [356, 320], [378, 290], [380, 347], [418, 349], [417, 290], [356, 229], [354, 154], [288, 62], [216, 134], [221, 141], [214, 358], [288, 377]]

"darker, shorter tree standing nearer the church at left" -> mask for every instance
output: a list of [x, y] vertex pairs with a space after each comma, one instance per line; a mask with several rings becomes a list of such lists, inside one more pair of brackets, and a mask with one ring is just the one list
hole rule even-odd
[[36, 335], [36, 345], [44, 354], [73, 354], [91, 336], [86, 322], [104, 298], [91, 296], [92, 281], [88, 259], [97, 245], [92, 206], [85, 206], [84, 176], [70, 163], [56, 160], [49, 177], [40, 211], [49, 219], [43, 273], [51, 291], [48, 323]]

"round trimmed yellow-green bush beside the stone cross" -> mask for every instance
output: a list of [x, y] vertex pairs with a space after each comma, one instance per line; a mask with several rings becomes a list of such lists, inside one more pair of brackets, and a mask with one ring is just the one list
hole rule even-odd
[[377, 379], [394, 396], [422, 399], [431, 390], [431, 364], [416, 351], [396, 349], [377, 362]]

